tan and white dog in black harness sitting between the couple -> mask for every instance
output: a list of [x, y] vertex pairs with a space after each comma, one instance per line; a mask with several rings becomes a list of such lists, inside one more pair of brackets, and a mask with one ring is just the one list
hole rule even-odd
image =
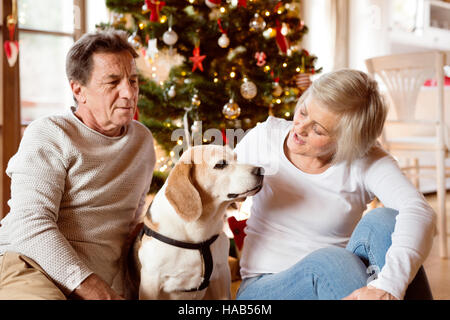
[[262, 168], [228, 147], [195, 146], [172, 169], [135, 242], [139, 299], [230, 299], [225, 211], [262, 188]]

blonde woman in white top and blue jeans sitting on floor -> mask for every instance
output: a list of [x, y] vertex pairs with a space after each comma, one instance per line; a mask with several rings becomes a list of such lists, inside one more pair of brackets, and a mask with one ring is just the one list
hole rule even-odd
[[[435, 213], [377, 144], [386, 114], [376, 82], [344, 69], [313, 82], [293, 121], [269, 117], [237, 145], [266, 172], [238, 299], [431, 298]], [[385, 207], [363, 215], [374, 197]]]

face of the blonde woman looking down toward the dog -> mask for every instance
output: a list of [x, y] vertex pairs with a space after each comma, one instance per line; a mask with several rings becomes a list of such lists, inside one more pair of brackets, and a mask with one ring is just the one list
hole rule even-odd
[[308, 157], [331, 158], [336, 151], [338, 116], [321, 106], [311, 95], [303, 103], [298, 103], [287, 139], [288, 150]]

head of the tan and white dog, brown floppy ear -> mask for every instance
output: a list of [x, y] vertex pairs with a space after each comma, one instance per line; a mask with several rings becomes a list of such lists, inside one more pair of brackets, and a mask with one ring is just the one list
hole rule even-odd
[[228, 147], [207, 145], [188, 149], [172, 169], [165, 195], [186, 221], [202, 215], [205, 203], [220, 205], [245, 199], [262, 188], [263, 170], [239, 164]]

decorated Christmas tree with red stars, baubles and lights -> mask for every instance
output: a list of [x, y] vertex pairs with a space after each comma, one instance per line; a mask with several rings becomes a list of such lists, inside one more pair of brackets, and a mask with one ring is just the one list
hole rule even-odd
[[[226, 129], [247, 130], [268, 115], [291, 118], [302, 93], [295, 77], [320, 72], [316, 57], [301, 47], [308, 28], [300, 17], [299, 1], [106, 4], [113, 18], [101, 27], [127, 30], [151, 70], [140, 77], [139, 120], [175, 158], [177, 143], [192, 143], [192, 135], [208, 129], [219, 129], [226, 139]], [[152, 72], [165, 67], [158, 56], [180, 58], [165, 79]], [[180, 128], [185, 129], [184, 138], [174, 139], [173, 131]], [[214, 143], [207, 137], [200, 142]]]

